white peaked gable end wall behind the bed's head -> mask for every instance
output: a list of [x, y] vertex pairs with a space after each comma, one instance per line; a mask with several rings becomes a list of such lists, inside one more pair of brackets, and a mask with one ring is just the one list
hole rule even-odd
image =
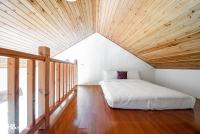
[[103, 79], [103, 70], [130, 69], [139, 70], [142, 79], [154, 82], [154, 68], [98, 33], [55, 58], [78, 59], [79, 84], [98, 84]]

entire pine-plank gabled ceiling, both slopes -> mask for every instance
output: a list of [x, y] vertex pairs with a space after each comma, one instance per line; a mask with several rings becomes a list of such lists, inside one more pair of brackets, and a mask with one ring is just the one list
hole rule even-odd
[[200, 0], [0, 0], [0, 46], [55, 55], [94, 32], [155, 68], [200, 68]]

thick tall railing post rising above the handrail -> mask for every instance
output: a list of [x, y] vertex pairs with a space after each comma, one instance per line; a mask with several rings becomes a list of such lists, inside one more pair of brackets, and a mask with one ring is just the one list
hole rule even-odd
[[38, 66], [38, 114], [45, 114], [45, 124], [41, 129], [49, 127], [49, 71], [50, 71], [50, 49], [39, 47], [39, 54], [45, 56], [44, 62], [39, 62]]

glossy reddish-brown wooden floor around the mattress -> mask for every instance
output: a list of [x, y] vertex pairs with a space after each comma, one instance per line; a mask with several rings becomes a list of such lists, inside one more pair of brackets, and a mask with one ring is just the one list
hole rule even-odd
[[45, 133], [200, 134], [200, 105], [194, 110], [111, 109], [101, 87], [79, 86], [77, 97]]

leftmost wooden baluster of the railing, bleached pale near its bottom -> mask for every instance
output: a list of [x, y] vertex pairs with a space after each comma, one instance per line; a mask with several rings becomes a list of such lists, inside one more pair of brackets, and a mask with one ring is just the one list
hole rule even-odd
[[8, 125], [9, 134], [19, 133], [19, 59], [8, 58]]

